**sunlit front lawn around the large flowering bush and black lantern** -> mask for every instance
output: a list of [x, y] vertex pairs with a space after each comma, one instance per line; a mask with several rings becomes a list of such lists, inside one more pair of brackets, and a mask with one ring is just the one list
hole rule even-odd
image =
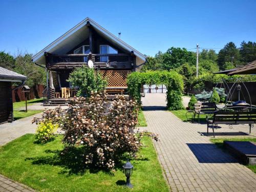
[[147, 147], [141, 148], [139, 158], [131, 161], [133, 189], [124, 186], [121, 168], [113, 173], [90, 169], [79, 172], [74, 157], [61, 161], [61, 139], [57, 136], [42, 145], [34, 142], [33, 134], [27, 134], [4, 145], [0, 148], [0, 174], [38, 191], [168, 191], [151, 138], [143, 138]]

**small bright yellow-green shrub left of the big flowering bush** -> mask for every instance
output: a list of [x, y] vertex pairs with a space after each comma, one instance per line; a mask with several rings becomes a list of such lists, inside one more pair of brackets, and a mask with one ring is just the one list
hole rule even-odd
[[41, 143], [46, 143], [54, 138], [54, 132], [58, 125], [51, 122], [40, 122], [36, 130], [36, 139]]

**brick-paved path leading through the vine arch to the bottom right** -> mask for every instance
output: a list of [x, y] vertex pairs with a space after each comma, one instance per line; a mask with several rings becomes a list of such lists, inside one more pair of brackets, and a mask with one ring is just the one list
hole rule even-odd
[[[160, 135], [155, 146], [173, 191], [256, 191], [256, 174], [198, 133], [205, 132], [206, 125], [182, 122], [161, 107], [151, 108], [165, 105], [163, 94], [147, 94], [142, 102], [146, 130]], [[248, 132], [248, 127], [220, 131]], [[255, 127], [251, 135], [256, 136]]]

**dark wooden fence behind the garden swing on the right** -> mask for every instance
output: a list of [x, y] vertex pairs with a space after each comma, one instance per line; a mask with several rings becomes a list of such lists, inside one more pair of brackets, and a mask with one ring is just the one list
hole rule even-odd
[[[244, 82], [248, 92], [249, 92], [249, 95], [250, 95], [250, 98], [249, 98], [249, 95], [245, 89], [245, 87], [242, 85], [242, 83], [240, 83], [241, 86], [242, 86], [242, 89], [241, 89], [241, 94], [240, 94], [240, 99], [241, 100], [245, 100], [247, 103], [250, 102], [250, 98], [251, 98], [251, 104], [253, 105], [256, 105], [256, 82]], [[232, 87], [233, 83], [232, 82], [228, 82], [227, 83], [229, 89]], [[206, 82], [205, 83], [205, 91], [212, 91], [212, 88], [216, 87], [216, 83], [212, 83], [212, 82]], [[218, 88], [221, 87], [221, 84], [219, 83], [217, 85]], [[223, 85], [222, 85], [222, 88], [223, 88]], [[203, 90], [189, 90], [188, 93], [189, 94], [200, 94]], [[232, 97], [231, 97], [231, 101], [237, 101], [238, 100], [238, 92], [235, 90], [234, 93], [232, 94]]]

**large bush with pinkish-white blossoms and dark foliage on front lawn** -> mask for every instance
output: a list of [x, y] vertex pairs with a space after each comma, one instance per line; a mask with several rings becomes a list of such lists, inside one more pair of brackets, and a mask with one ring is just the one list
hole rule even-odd
[[89, 98], [74, 98], [66, 111], [46, 111], [44, 117], [35, 118], [34, 122], [51, 120], [65, 131], [66, 150], [62, 153], [83, 147], [80, 155], [86, 166], [112, 169], [125, 152], [136, 157], [143, 135], [157, 140], [154, 134], [135, 131], [139, 110], [136, 103], [126, 101], [122, 95], [110, 102], [105, 92], [93, 92]]

